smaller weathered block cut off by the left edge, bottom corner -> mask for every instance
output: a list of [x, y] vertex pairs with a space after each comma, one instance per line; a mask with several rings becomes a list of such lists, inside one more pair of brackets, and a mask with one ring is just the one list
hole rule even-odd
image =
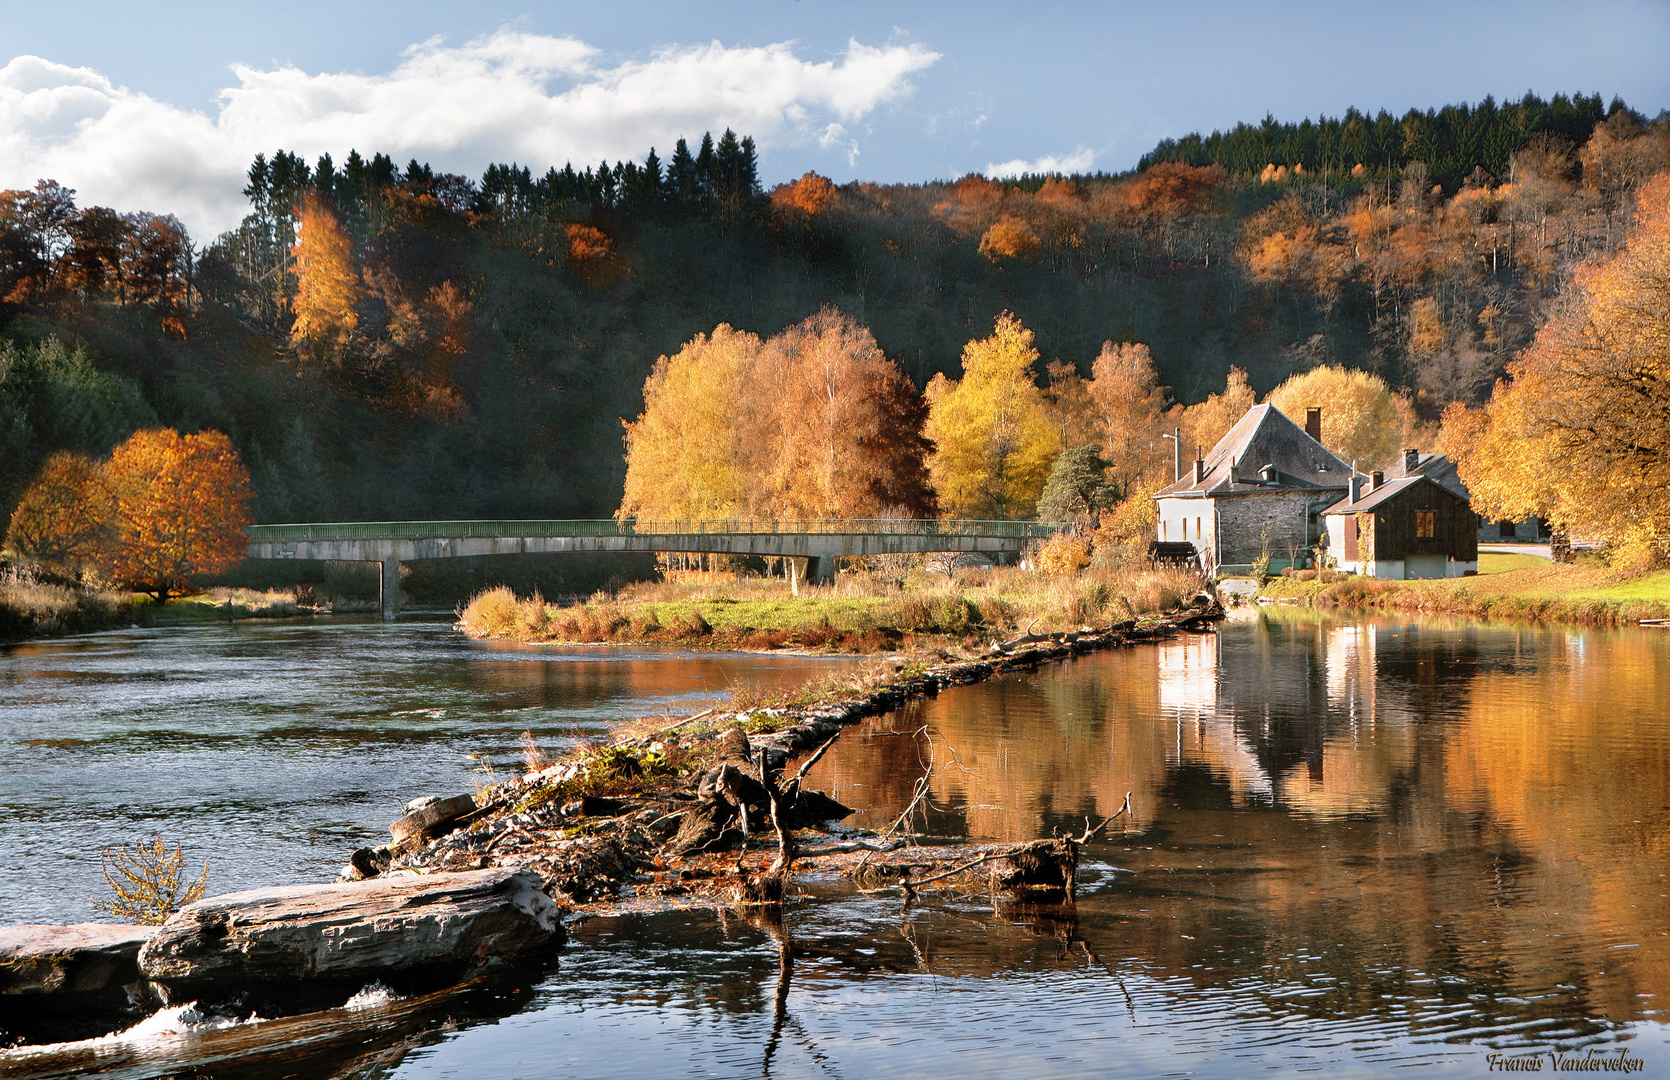
[[0, 926], [0, 1045], [89, 1038], [149, 1002], [139, 948], [155, 926]]

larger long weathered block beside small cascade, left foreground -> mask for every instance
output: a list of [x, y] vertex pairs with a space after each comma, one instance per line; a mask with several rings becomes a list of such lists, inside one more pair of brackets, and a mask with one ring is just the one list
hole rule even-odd
[[478, 870], [229, 893], [177, 911], [139, 953], [164, 1002], [262, 1015], [339, 1005], [369, 982], [401, 993], [561, 945], [534, 875]]

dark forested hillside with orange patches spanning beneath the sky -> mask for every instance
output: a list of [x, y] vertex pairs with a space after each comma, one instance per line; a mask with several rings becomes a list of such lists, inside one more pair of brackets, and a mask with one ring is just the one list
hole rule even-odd
[[1009, 310], [1040, 384], [1142, 342], [1177, 402], [1231, 366], [1266, 392], [1343, 364], [1435, 419], [1488, 396], [1670, 162], [1663, 115], [1486, 105], [1268, 120], [1131, 175], [1005, 184], [763, 192], [730, 132], [481, 180], [279, 152], [214, 240], [43, 180], [0, 194], [0, 511], [52, 451], [160, 421], [227, 431], [264, 521], [608, 516], [658, 356], [823, 305], [918, 391]]

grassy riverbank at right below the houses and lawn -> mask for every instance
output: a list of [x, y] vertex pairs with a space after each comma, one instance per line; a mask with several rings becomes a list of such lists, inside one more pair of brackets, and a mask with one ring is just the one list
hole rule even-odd
[[1259, 598], [1358, 611], [1632, 626], [1642, 619], [1670, 618], [1670, 571], [1630, 574], [1605, 566], [1520, 558], [1500, 573], [1435, 581], [1276, 578]]

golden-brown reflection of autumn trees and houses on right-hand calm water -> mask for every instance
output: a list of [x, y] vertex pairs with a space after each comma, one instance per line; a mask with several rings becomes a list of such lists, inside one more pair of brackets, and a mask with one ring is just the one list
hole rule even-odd
[[[1324, 618], [947, 691], [907, 723], [967, 770], [935, 775], [942, 831], [1029, 840], [1136, 790], [1141, 840], [1091, 851], [1137, 870], [1080, 896], [1097, 955], [1303, 983], [1313, 1015], [1597, 1032], [1670, 993], [1665, 701], [1670, 634]], [[925, 754], [847, 738], [828, 775], [885, 823]]]

